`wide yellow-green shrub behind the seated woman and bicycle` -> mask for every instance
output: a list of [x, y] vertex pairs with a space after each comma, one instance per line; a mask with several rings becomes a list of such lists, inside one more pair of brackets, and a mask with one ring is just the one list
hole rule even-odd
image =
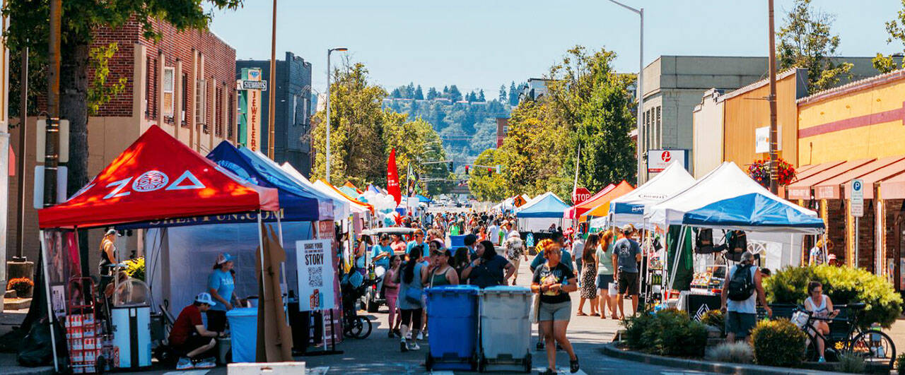
[[858, 320], [862, 329], [872, 323], [890, 328], [902, 312], [901, 295], [890, 282], [863, 269], [827, 265], [786, 267], [765, 280], [764, 289], [770, 303], [803, 304], [811, 280], [824, 285], [824, 294], [833, 299], [834, 305], [864, 303], [864, 314]]

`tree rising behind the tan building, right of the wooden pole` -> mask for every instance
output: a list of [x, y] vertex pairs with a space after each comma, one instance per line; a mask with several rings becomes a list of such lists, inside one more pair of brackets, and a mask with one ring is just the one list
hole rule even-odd
[[809, 93], [830, 89], [840, 79], [852, 77], [852, 63], [832, 59], [840, 41], [831, 30], [834, 21], [833, 14], [812, 9], [811, 0], [795, 0], [785, 25], [776, 33], [779, 68], [806, 69]]

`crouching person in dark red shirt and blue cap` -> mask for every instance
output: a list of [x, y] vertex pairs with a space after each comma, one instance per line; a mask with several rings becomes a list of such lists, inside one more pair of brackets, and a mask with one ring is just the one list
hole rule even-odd
[[198, 360], [202, 354], [210, 352], [216, 345], [215, 337], [222, 337], [223, 333], [207, 331], [205, 323], [201, 320], [201, 313], [206, 312], [211, 306], [216, 305], [209, 293], [199, 293], [195, 296], [195, 302], [187, 305], [179, 313], [173, 329], [170, 330], [169, 344], [176, 351], [185, 353], [176, 363], [176, 370], [208, 369], [216, 366], [213, 358]]

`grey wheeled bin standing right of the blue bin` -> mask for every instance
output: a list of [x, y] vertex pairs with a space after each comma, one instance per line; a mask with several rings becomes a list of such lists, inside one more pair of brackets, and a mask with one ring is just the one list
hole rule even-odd
[[530, 288], [491, 286], [481, 290], [481, 372], [488, 365], [517, 365], [531, 372], [530, 310]]

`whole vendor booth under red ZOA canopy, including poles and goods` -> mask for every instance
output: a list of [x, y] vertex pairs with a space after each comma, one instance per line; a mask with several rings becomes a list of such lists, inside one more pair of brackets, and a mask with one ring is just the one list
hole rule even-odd
[[[69, 238], [75, 237], [77, 229], [105, 226], [144, 223], [143, 225], [148, 227], [164, 228], [197, 225], [215, 219], [225, 220], [240, 216], [256, 220], [258, 224], [254, 228], [257, 229], [257, 233], [252, 232], [252, 235], [242, 240], [251, 243], [252, 247], [259, 248], [259, 261], [253, 258], [251, 260], [259, 267], [252, 273], [240, 277], [261, 278], [256, 293], [262, 300], [258, 311], [260, 316], [270, 318], [265, 319], [268, 322], [266, 330], [263, 325], [258, 326], [260, 353], [258, 360], [286, 361], [291, 360], [291, 337], [287, 337], [288, 326], [281, 323], [284, 322], [284, 310], [277, 294], [280, 271], [279, 266], [274, 268], [274, 265], [279, 264], [282, 248], [271, 240], [275, 238], [272, 230], [270, 236], [265, 236], [263, 231], [266, 229], [262, 224], [264, 216], [262, 212], [267, 211], [268, 216], [276, 217], [279, 210], [277, 189], [243, 180], [197, 155], [176, 138], [153, 126], [67, 202], [38, 211], [38, 217], [43, 235], [62, 232], [68, 234]], [[62, 243], [44, 242], [42, 244], [44, 253], [59, 250], [61, 247], [70, 247], [64, 249], [63, 254], [78, 253], [77, 249], [71, 248], [76, 246], [77, 239]], [[192, 249], [179, 250], [187, 252]], [[44, 259], [43, 267], [46, 273], [47, 258]], [[113, 259], [114, 264], [116, 260]], [[77, 259], [71, 261], [77, 262]], [[205, 268], [210, 269], [212, 263], [213, 261], [208, 263]], [[147, 317], [138, 315], [150, 314], [150, 308], [143, 306], [153, 308], [162, 303], [154, 298], [156, 287], [154, 281], [148, 279], [150, 290], [144, 295], [135, 294], [142, 293], [140, 287], [125, 287], [123, 290], [131, 291], [128, 295], [106, 300], [108, 301], [104, 303], [106, 307], [101, 308], [93, 304], [104, 299], [98, 298], [93, 291], [94, 288], [82, 283], [80, 281], [82, 279], [78, 275], [71, 275], [70, 280], [67, 280], [69, 283], [51, 286], [48, 277], [48, 283], [44, 286], [48, 295], [53, 295], [50, 311], [63, 312], [64, 316], [58, 314], [57, 319], [66, 322], [67, 331], [71, 333], [66, 338], [53, 338], [67, 340], [73, 364], [71, 370], [75, 372], [106, 370], [97, 369], [94, 362], [88, 361], [96, 360], [98, 357], [106, 358], [113, 368], [138, 369], [150, 365], [151, 346], [137, 342], [142, 340], [142, 337], [147, 337], [143, 331], [149, 330], [150, 327], [149, 324], [141, 323], [147, 322]], [[103, 277], [101, 282], [104, 282]], [[110, 281], [110, 284], [115, 286], [115, 291], [121, 288], [119, 277]], [[122, 285], [133, 284], [129, 282]], [[120, 294], [117, 292], [114, 295]], [[57, 305], [77, 308], [61, 309]], [[116, 327], [111, 324], [112, 314], [109, 310], [119, 306], [129, 308], [129, 316], [134, 317], [123, 320], [128, 322], [129, 329], [121, 326], [123, 323], [117, 323]], [[182, 307], [176, 306], [180, 309]], [[92, 324], [99, 322], [97, 325], [90, 325], [90, 331], [86, 329], [89, 327], [86, 325], [89, 320]], [[87, 337], [86, 333], [90, 333], [91, 336]], [[90, 342], [88, 339], [91, 339]], [[121, 352], [122, 346], [114, 345], [113, 342], [130, 342], [131, 349], [129, 352]]]

